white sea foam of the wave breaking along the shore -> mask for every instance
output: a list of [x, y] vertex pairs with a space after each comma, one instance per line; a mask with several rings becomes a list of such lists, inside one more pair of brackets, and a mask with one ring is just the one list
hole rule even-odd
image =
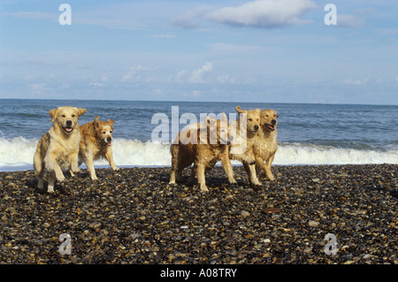
[[[0, 139], [0, 171], [30, 170], [37, 139]], [[115, 139], [112, 145], [119, 166], [170, 166], [170, 145], [152, 141]], [[107, 166], [96, 161], [96, 166]], [[232, 164], [241, 164], [232, 161]], [[329, 146], [280, 143], [273, 164], [398, 164], [398, 150], [341, 149]]]

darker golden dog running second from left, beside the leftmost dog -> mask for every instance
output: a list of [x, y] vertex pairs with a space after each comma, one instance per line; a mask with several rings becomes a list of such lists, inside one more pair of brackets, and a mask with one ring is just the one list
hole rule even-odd
[[[80, 126], [79, 164], [86, 163], [92, 180], [97, 180], [94, 161], [105, 158], [113, 171], [119, 171], [113, 160], [111, 143], [113, 141], [114, 120], [99, 120], [99, 116], [87, 124]], [[72, 173], [72, 172], [71, 172]]]

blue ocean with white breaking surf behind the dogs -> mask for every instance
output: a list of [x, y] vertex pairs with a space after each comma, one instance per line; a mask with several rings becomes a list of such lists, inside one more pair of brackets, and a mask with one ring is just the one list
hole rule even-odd
[[66, 105], [87, 109], [80, 125], [97, 115], [115, 120], [112, 149], [119, 167], [170, 166], [173, 133], [187, 118], [225, 111], [233, 119], [237, 105], [278, 112], [273, 164], [398, 164], [396, 105], [0, 99], [0, 171], [31, 170], [37, 142], [51, 126], [49, 111]]

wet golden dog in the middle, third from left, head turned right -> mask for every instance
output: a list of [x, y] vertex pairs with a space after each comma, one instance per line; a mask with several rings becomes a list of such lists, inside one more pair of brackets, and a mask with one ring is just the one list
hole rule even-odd
[[[172, 172], [169, 184], [180, 181], [182, 170], [191, 164], [189, 181], [197, 175], [201, 191], [208, 192], [204, 172], [210, 170], [218, 161], [223, 164], [224, 170], [231, 184], [236, 183], [233, 178], [233, 168], [229, 159], [228, 120], [223, 112], [223, 118], [214, 119], [207, 116], [206, 126], [200, 123], [186, 126], [177, 135], [171, 147]], [[177, 173], [177, 178], [175, 174]]]

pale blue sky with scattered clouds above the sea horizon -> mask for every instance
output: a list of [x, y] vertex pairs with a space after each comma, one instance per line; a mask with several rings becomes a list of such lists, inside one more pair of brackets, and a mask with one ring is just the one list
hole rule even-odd
[[397, 15], [395, 0], [0, 0], [0, 98], [397, 105]]

